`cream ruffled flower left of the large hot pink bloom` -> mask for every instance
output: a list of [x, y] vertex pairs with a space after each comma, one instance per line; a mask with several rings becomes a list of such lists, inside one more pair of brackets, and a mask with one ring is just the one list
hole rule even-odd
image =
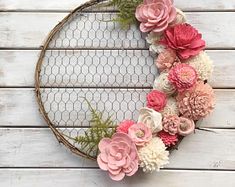
[[159, 44], [159, 41], [161, 40], [162, 37], [162, 33], [153, 33], [150, 32], [147, 37], [146, 37], [146, 41], [148, 44], [150, 44], [149, 46], [149, 51], [153, 52], [153, 53], [161, 53], [162, 51], [164, 51], [165, 46]]

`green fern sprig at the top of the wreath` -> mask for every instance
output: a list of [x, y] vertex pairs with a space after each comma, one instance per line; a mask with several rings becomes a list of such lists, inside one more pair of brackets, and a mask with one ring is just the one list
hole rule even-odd
[[117, 7], [118, 17], [114, 19], [120, 23], [122, 28], [128, 28], [129, 25], [137, 22], [135, 18], [136, 7], [143, 0], [111, 0], [110, 5]]

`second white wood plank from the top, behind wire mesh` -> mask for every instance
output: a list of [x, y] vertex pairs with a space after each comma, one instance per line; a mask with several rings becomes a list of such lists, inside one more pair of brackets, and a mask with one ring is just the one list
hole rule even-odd
[[[47, 33], [63, 18], [66, 13], [17, 13], [17, 12], [1, 12], [0, 13], [0, 36], [2, 48], [38, 48], [45, 39]], [[89, 17], [90, 16], [90, 17]], [[90, 23], [97, 35], [100, 35], [103, 39], [86, 39], [85, 43], [79, 38], [78, 41], [71, 39], [57, 41], [56, 47], [108, 47], [108, 48], [143, 48], [145, 47], [144, 39], [141, 39], [139, 32], [136, 31], [133, 26], [132, 29], [126, 31], [120, 31], [119, 36], [117, 34], [118, 25], [113, 22], [103, 22], [101, 27], [97, 28], [97, 23], [100, 20], [110, 20], [115, 15], [113, 13], [90, 13], [83, 14], [82, 18], [77, 19], [90, 19]], [[92, 17], [93, 16], [93, 17]], [[94, 17], [95, 16], [95, 17]], [[202, 32], [204, 39], [207, 41], [209, 48], [234, 48], [235, 41], [231, 40], [234, 37], [233, 23], [235, 22], [234, 12], [194, 12], [187, 13], [189, 23], [194, 25], [200, 32]], [[94, 21], [94, 19], [97, 19]], [[37, 21], [35, 21], [37, 20]], [[88, 24], [88, 22], [86, 22]], [[89, 24], [90, 24], [89, 23]], [[86, 24], [86, 25], [87, 25]], [[103, 27], [103, 26], [104, 27]], [[73, 27], [73, 26], [72, 26]], [[82, 23], [75, 28], [77, 34], [79, 34], [78, 28], [82, 28]], [[19, 29], [20, 28], [20, 29]], [[90, 28], [90, 27], [89, 27]], [[114, 29], [116, 28], [116, 29]], [[83, 30], [84, 31], [84, 30]], [[105, 32], [102, 32], [105, 31]], [[94, 33], [83, 32], [82, 38], [88, 38], [88, 36], [94, 36]], [[61, 33], [63, 36], [64, 32]], [[73, 36], [71, 28], [66, 32], [67, 37]], [[81, 34], [81, 33], [80, 33]], [[119, 39], [119, 37], [121, 39]], [[136, 38], [133, 40], [132, 38]]]

